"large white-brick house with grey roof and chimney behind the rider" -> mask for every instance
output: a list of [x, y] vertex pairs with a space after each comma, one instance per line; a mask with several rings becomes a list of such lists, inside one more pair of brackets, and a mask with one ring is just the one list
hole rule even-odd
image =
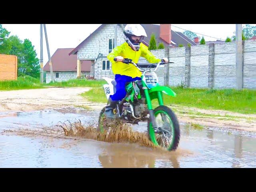
[[[171, 30], [171, 24], [141, 24], [148, 35], [144, 39], [146, 46], [149, 46], [150, 36], [152, 33], [156, 36], [157, 45], [162, 42], [165, 47], [177, 47], [179, 44], [187, 46], [197, 45], [181, 32]], [[125, 24], [124, 24], [125, 26]], [[69, 55], [77, 55], [77, 76], [80, 76], [81, 68], [86, 63], [85, 60], [95, 61], [91, 66], [90, 76], [95, 79], [102, 77], [113, 78], [114, 74], [111, 69], [111, 62], [107, 55], [115, 46], [124, 43], [124, 34], [120, 24], [102, 24], [90, 36], [82, 41], [76, 48], [70, 51]]]

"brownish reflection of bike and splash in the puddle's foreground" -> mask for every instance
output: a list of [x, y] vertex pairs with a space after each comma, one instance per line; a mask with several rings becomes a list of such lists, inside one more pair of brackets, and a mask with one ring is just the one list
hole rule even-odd
[[[128, 146], [131, 145], [131, 146]], [[103, 168], [180, 168], [178, 154], [154, 151], [148, 148], [134, 149], [133, 144], [105, 147], [98, 156]], [[156, 164], [158, 162], [159, 164]]]

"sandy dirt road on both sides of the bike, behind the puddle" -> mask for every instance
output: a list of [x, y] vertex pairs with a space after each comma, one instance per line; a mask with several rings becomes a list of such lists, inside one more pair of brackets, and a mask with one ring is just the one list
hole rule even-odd
[[[89, 89], [46, 88], [0, 91], [0, 112], [34, 111], [69, 106], [90, 106], [92, 110], [100, 111], [104, 104], [88, 102], [79, 95]], [[256, 132], [256, 115], [254, 114], [245, 115], [222, 110], [202, 110], [176, 105], [171, 106], [171, 108], [175, 110], [180, 122]]]

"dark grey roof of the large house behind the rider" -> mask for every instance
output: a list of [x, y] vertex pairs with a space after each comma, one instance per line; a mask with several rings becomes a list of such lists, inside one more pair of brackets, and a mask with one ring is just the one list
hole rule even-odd
[[[69, 55], [71, 54], [76, 54], [79, 50], [79, 48], [81, 48], [84, 43], [86, 43], [88, 40], [90, 40], [90, 37], [92, 37], [94, 34], [96, 34], [99, 30], [101, 30], [106, 24], [102, 24], [101, 26], [99, 26], [92, 34], [90, 34], [85, 40], [83, 40], [76, 48], [74, 48]], [[160, 25], [155, 25], [155, 24], [141, 24], [148, 37], [144, 38], [144, 44], [146, 46], [149, 45], [150, 42], [150, 36], [152, 33], [155, 34], [156, 36], [156, 42], [160, 43], [162, 42], [164, 44], [164, 46], [170, 46], [166, 41], [162, 40], [160, 38]], [[118, 24], [118, 26], [120, 26], [120, 24]], [[124, 26], [126, 26], [126, 24], [124, 24]], [[176, 32], [171, 30], [171, 35], [172, 35], [172, 43], [171, 46], [178, 46], [179, 44], [183, 44], [183, 46], [187, 46], [188, 43], [190, 43], [191, 45], [197, 45], [194, 41], [190, 40], [187, 36], [185, 36], [182, 32]]]

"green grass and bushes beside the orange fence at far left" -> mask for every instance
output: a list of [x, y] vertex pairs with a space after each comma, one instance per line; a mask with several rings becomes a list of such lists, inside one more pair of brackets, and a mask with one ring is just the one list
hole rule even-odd
[[0, 90], [20, 90], [44, 88], [40, 79], [31, 76], [18, 77], [17, 80], [0, 81]]

